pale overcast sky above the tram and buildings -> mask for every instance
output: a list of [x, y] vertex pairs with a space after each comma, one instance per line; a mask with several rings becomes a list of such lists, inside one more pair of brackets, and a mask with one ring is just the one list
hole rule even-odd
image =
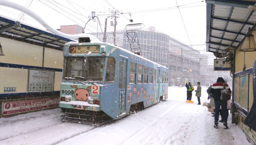
[[[125, 29], [127, 24], [143, 23], [145, 27], [155, 27], [201, 53], [206, 51], [206, 3], [200, 0], [9, 0], [34, 11], [54, 28], [61, 25], [77, 24], [84, 27], [91, 12], [96, 12], [100, 23], [90, 21], [85, 33], [102, 33], [105, 18], [108, 17], [107, 32], [113, 32], [110, 26], [111, 15], [117, 11], [117, 30]], [[28, 15], [0, 6], [0, 13], [20, 21], [43, 27]], [[130, 15], [131, 14], [131, 15]], [[98, 28], [98, 29], [97, 29]], [[103, 30], [104, 31], [104, 30]], [[210, 54], [210, 55], [209, 55]], [[205, 56], [213, 56], [207, 53]]]

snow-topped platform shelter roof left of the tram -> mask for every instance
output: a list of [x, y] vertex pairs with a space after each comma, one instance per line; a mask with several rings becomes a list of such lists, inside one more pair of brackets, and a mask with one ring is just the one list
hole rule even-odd
[[74, 41], [3, 15], [0, 15], [0, 36], [56, 50], [63, 50], [65, 43]]

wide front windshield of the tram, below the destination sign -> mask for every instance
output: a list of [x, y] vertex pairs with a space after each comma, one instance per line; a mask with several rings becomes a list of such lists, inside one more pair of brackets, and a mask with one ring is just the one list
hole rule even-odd
[[63, 80], [102, 82], [105, 57], [64, 57]]

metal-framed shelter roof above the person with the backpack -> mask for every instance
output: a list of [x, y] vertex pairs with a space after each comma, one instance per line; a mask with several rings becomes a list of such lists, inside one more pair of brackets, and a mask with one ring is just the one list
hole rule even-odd
[[236, 48], [256, 23], [256, 0], [206, 0], [206, 51]]

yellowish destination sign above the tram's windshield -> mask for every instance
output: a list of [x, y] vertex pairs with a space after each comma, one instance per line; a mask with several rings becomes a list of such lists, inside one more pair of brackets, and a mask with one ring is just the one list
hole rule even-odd
[[99, 45], [79, 45], [70, 46], [69, 53], [71, 54], [84, 54], [84, 53], [99, 53]]

